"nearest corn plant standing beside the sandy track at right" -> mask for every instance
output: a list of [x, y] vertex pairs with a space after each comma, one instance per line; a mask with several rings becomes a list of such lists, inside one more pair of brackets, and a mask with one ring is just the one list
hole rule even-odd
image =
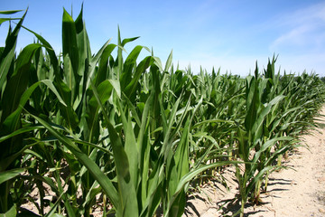
[[[269, 67], [272, 67], [269, 64]], [[292, 137], [279, 137], [269, 128], [276, 124], [274, 110], [284, 99], [283, 95], [271, 94], [267, 82], [259, 78], [256, 66], [255, 76], [246, 78], [246, 118], [243, 128], [238, 127], [238, 156], [246, 163], [243, 171], [237, 166], [236, 176], [241, 196], [241, 216], [248, 198], [254, 203], [259, 202], [260, 188], [265, 175], [274, 170], [272, 163], [277, 156], [283, 154], [290, 146], [271, 153], [272, 147], [279, 141], [291, 141]], [[264, 102], [264, 103], [263, 103]]]

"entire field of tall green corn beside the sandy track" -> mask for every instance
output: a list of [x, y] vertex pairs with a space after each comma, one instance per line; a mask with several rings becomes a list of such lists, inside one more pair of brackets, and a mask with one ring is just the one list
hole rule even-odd
[[[119, 29], [94, 54], [82, 9], [75, 20], [63, 10], [58, 54], [26, 14], [1, 18], [0, 216], [181, 216], [190, 189], [225, 166], [244, 216], [324, 103], [318, 75], [281, 74], [276, 57], [246, 78], [193, 73], [172, 52], [163, 64], [144, 46], [125, 51], [137, 38]], [[35, 42], [16, 52], [21, 29]]]

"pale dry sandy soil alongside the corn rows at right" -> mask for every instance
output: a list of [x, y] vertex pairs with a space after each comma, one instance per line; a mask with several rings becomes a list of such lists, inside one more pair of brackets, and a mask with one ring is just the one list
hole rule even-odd
[[[325, 107], [320, 114], [325, 115]], [[320, 127], [302, 136], [308, 149], [299, 147], [283, 162], [292, 169], [270, 175], [267, 193], [261, 196], [263, 204], [256, 207], [248, 204], [246, 216], [325, 216], [325, 117], [318, 119]], [[228, 203], [238, 193], [232, 168], [228, 168], [225, 178], [228, 189], [210, 183], [203, 186], [200, 194], [190, 195], [183, 216], [212, 217], [236, 212], [239, 206]]]

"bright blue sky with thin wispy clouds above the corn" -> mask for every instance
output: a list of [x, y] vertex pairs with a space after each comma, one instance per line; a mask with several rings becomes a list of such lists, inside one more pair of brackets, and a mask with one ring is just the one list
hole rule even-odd
[[[140, 36], [125, 46], [126, 52], [144, 45], [163, 64], [172, 52], [172, 62], [181, 70], [190, 66], [194, 73], [200, 67], [210, 72], [214, 67], [246, 76], [255, 71], [256, 61], [262, 71], [275, 55], [281, 73], [325, 76], [324, 0], [2, 0], [0, 11], [28, 7], [23, 25], [40, 33], [59, 53], [63, 8], [76, 19], [82, 4], [93, 53], [110, 38], [117, 43], [119, 26], [122, 38]], [[2, 24], [0, 46], [5, 45], [7, 31], [8, 24]], [[33, 39], [22, 30], [17, 49]], [[144, 51], [140, 58], [150, 54]]]

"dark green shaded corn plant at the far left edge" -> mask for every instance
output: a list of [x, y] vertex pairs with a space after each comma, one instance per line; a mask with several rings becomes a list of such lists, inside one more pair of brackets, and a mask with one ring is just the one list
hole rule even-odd
[[[18, 11], [7, 11], [2, 14], [14, 14]], [[18, 24], [12, 30], [9, 26], [9, 32], [6, 38], [5, 47], [1, 49], [1, 144], [4, 148], [1, 156], [1, 203], [0, 212], [9, 212], [13, 214], [16, 211], [14, 203], [20, 204], [23, 195], [23, 183], [14, 193], [10, 191], [14, 181], [21, 178], [23, 172], [30, 169], [25, 167], [21, 156], [27, 149], [34, 146], [28, 137], [33, 137], [31, 132], [37, 126], [31, 125], [27, 119], [23, 119], [23, 107], [31, 98], [32, 93], [40, 86], [45, 86], [56, 95], [62, 103], [58, 91], [55, 89], [51, 80], [37, 80], [33, 82], [32, 78], [36, 69], [32, 64], [35, 53], [40, 52], [42, 44], [33, 43], [23, 48], [18, 57], [15, 57], [15, 44], [17, 35], [22, 28], [23, 17], [19, 19]], [[6, 20], [6, 19], [4, 19]], [[10, 19], [8, 19], [10, 20]], [[21, 191], [19, 191], [21, 190]]]

